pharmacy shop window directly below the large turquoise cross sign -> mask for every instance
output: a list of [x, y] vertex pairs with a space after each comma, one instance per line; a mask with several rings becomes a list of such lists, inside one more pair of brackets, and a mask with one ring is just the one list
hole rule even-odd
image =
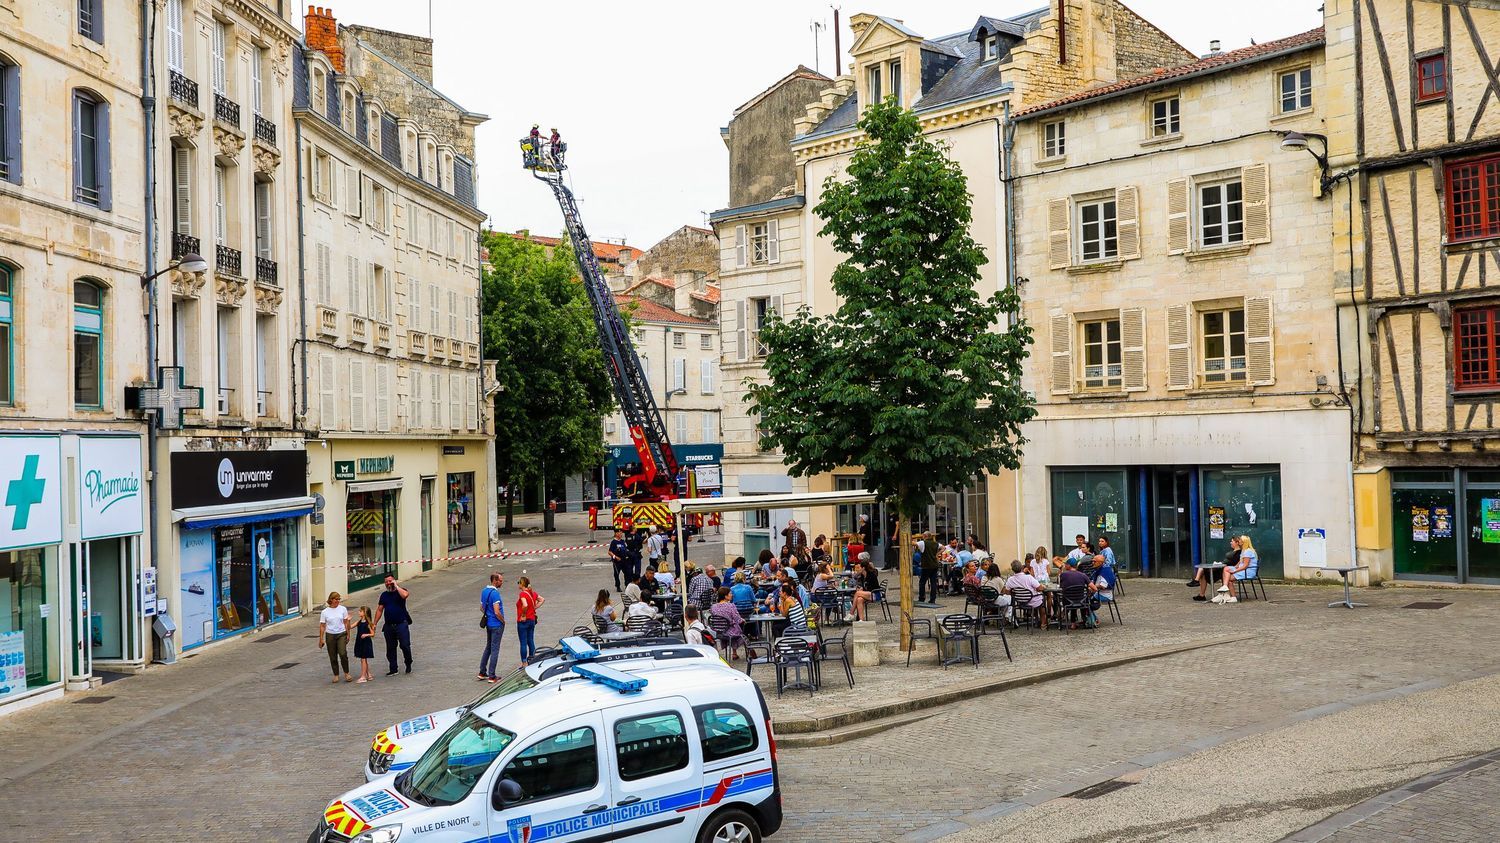
[[56, 567], [46, 548], [0, 554], [0, 700], [58, 681]]

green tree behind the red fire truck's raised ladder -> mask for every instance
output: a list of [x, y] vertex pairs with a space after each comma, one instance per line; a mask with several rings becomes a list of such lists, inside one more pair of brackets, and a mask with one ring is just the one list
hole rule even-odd
[[518, 488], [603, 462], [615, 404], [572, 248], [549, 250], [525, 234], [484, 236], [484, 356], [498, 360], [495, 480], [507, 532]]

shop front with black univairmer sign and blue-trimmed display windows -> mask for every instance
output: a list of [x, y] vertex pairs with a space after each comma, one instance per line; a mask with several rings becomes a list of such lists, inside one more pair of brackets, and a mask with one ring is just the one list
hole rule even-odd
[[180, 646], [300, 615], [306, 452], [174, 452], [171, 471]]

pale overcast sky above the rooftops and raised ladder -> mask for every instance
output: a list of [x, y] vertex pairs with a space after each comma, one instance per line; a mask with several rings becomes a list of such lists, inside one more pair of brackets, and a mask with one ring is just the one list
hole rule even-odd
[[[840, 2], [849, 15], [898, 18], [927, 38], [968, 32], [980, 15], [1012, 16], [1046, 0]], [[330, 0], [340, 22], [428, 34], [424, 0]], [[1194, 52], [1266, 42], [1322, 24], [1320, 0], [1128, 0]], [[718, 129], [734, 110], [796, 68], [834, 75], [832, 12], [820, 0], [432, 0], [435, 82], [478, 128], [478, 200], [496, 230], [556, 234], [550, 190], [520, 170], [516, 140], [532, 123], [568, 142], [573, 189], [596, 240], [648, 248], [728, 201]], [[843, 62], [848, 64], [848, 58]]]

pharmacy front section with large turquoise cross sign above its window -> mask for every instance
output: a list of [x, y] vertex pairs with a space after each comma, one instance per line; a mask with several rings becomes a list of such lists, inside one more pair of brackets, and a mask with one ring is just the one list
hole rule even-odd
[[0, 706], [10, 708], [63, 688], [62, 438], [0, 436]]

